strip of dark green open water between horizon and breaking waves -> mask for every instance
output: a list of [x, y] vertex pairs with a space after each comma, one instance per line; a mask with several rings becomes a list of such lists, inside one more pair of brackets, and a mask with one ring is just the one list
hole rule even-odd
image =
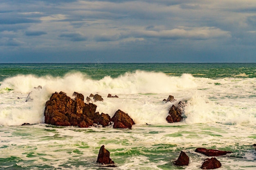
[[0, 81], [18, 74], [37, 76], [63, 76], [66, 73], [81, 72], [93, 79], [107, 75], [118, 77], [136, 70], [163, 72], [180, 76], [189, 73], [194, 77], [223, 78], [245, 73], [249, 78], [256, 77], [256, 63], [76, 63], [76, 64], [0, 64]]

